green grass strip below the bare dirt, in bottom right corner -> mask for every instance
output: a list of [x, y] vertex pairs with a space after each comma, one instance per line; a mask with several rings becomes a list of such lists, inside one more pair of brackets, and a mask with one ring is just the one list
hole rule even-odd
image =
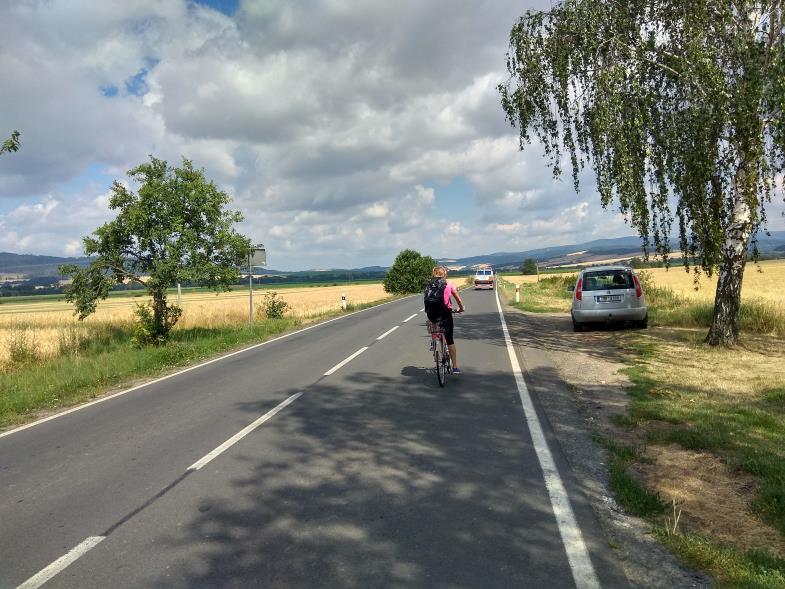
[[782, 589], [785, 587], [785, 560], [768, 552], [741, 553], [731, 546], [699, 534], [668, 534], [656, 530], [658, 539], [691, 567], [717, 579], [721, 589]]

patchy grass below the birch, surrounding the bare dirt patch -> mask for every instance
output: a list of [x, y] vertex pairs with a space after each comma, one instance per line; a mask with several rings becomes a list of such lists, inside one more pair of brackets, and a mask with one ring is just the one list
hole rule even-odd
[[[779, 533], [781, 547], [785, 545], [781, 542], [785, 539], [785, 348], [773, 350], [769, 337], [752, 339], [735, 350], [711, 348], [701, 341], [702, 334], [694, 330], [626, 334], [622, 345], [628, 351], [625, 372], [632, 382], [631, 402], [628, 415], [613, 423], [642, 445], [676, 444], [709, 452], [724, 463], [728, 477], [734, 472], [753, 475], [758, 481], [750, 502], [755, 515], [743, 510], [736, 514], [738, 530], [760, 526], [748, 521], [757, 516]], [[785, 587], [785, 560], [746, 547], [741, 531], [724, 530], [723, 537], [737, 533], [740, 538], [724, 541], [716, 534], [674, 532], [658, 524], [655, 516], [661, 512], [649, 496], [654, 494], [660, 503], [661, 499], [628, 474], [628, 467], [645, 457], [637, 449], [600, 442], [609, 451], [611, 487], [619, 503], [628, 512], [647, 517], [663, 543], [685, 562], [714, 576], [719, 587]], [[668, 473], [673, 481], [678, 476]], [[771, 530], [774, 537], [777, 532]]]

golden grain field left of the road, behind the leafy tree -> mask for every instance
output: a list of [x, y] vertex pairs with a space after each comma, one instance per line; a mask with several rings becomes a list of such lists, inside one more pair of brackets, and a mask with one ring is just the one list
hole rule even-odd
[[[260, 313], [258, 305], [264, 293], [274, 288], [254, 291], [254, 313]], [[346, 293], [346, 302], [362, 304], [387, 296], [381, 283], [285, 288], [276, 291], [279, 298], [289, 307], [286, 314], [295, 317], [311, 317], [340, 309], [341, 293]], [[64, 302], [29, 302], [0, 305], [0, 366], [10, 359], [12, 344], [25, 340], [36, 350], [39, 358], [52, 358], [60, 353], [69, 338], [87, 339], [107, 325], [130, 323], [135, 303], [144, 302], [144, 296], [113, 297], [101, 301], [95, 314], [78, 321], [73, 306]], [[176, 295], [170, 295], [176, 302]], [[242, 325], [248, 321], [248, 291], [238, 288], [226, 293], [184, 293], [183, 315], [175, 329], [189, 327], [218, 327]]]

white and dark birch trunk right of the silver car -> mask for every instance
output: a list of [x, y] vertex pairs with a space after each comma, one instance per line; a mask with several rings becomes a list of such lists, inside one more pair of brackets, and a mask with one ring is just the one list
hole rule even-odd
[[736, 202], [725, 232], [722, 266], [714, 297], [714, 318], [706, 336], [706, 343], [712, 346], [735, 346], [739, 343], [741, 284], [752, 232], [752, 211], [746, 198], [748, 178], [742, 170], [737, 173], [734, 184]]

